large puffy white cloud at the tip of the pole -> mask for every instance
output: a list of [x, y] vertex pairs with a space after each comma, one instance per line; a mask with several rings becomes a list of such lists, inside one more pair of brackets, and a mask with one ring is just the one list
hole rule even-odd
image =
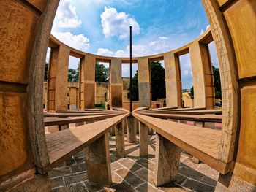
[[135, 18], [125, 12], [117, 12], [113, 7], [105, 7], [100, 17], [105, 37], [117, 36], [120, 39], [129, 37], [129, 26], [132, 26], [132, 34], [140, 34], [140, 26]]

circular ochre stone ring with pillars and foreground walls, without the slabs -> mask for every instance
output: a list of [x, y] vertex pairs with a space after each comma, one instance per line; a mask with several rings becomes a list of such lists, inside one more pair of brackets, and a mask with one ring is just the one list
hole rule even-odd
[[[138, 63], [140, 107], [150, 106], [150, 61], [165, 61], [167, 106], [181, 107], [178, 57], [190, 53], [195, 107], [214, 107], [207, 45], [215, 42], [222, 84], [222, 137], [217, 162], [225, 164], [216, 191], [253, 191], [256, 183], [256, 1], [202, 0], [211, 28], [167, 53]], [[111, 106], [121, 105], [121, 63], [75, 50], [50, 36], [58, 0], [0, 1], [0, 190], [50, 191], [44, 131], [43, 74], [51, 48], [48, 111], [66, 110], [69, 55], [81, 59], [80, 109], [94, 107], [95, 61], [110, 63]], [[85, 70], [86, 69], [86, 70]], [[49, 99], [52, 97], [52, 99]], [[215, 164], [216, 162], [213, 162]]]

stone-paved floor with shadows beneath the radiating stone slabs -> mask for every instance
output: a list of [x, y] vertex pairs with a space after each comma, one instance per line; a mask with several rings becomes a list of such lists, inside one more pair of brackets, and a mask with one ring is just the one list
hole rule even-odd
[[181, 164], [176, 182], [154, 187], [155, 138], [148, 137], [148, 158], [138, 156], [139, 144], [125, 142], [126, 158], [116, 158], [115, 137], [110, 137], [110, 159], [113, 185], [102, 188], [89, 183], [83, 151], [72, 157], [72, 164], [59, 165], [49, 172], [54, 192], [59, 191], [214, 191], [219, 173], [206, 164], [194, 164], [192, 156], [181, 153]]

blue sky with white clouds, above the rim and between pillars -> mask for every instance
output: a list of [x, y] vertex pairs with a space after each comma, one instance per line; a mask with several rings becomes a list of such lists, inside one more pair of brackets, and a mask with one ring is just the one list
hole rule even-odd
[[[51, 33], [87, 53], [128, 57], [129, 26], [133, 56], [143, 56], [192, 42], [206, 31], [209, 23], [201, 0], [61, 0]], [[209, 47], [217, 66], [214, 44]], [[78, 61], [70, 57], [69, 68], [78, 68]], [[191, 88], [189, 54], [180, 61], [183, 88]], [[135, 74], [138, 67], [133, 66]], [[122, 75], [129, 77], [129, 65], [124, 64], [122, 69]]]

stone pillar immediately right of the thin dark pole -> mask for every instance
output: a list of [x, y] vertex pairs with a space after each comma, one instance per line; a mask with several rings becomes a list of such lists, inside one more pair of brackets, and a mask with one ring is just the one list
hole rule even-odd
[[150, 68], [148, 58], [138, 59], [139, 107], [151, 107]]

